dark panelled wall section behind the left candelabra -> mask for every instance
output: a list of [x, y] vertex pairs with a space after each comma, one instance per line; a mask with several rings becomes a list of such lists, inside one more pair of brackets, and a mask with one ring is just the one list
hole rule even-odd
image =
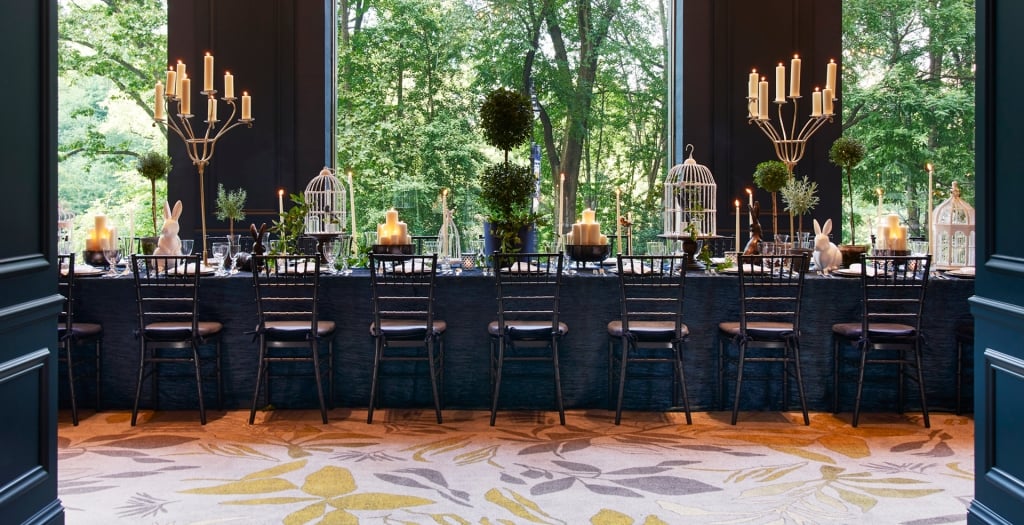
[[[330, 3], [329, 1], [326, 3]], [[224, 71], [234, 76], [236, 96], [253, 97], [252, 128], [228, 131], [217, 142], [206, 170], [208, 233], [224, 234], [226, 222], [214, 218], [217, 184], [245, 188], [246, 223], [268, 222], [278, 216], [278, 189], [301, 193], [329, 162], [325, 142], [331, 107], [325, 104], [325, 13], [323, 0], [176, 0], [168, 7], [168, 64], [183, 60], [193, 82], [193, 112], [204, 115], [199, 100], [203, 56], [215, 57], [215, 88], [222, 91]], [[334, 61], [330, 61], [331, 64]], [[222, 94], [221, 94], [222, 95]], [[218, 96], [221, 96], [218, 95]], [[220, 117], [228, 115], [221, 105]], [[205, 130], [202, 118], [199, 129]], [[199, 176], [182, 141], [168, 138], [174, 169], [168, 196], [181, 200], [184, 238], [200, 238]]]

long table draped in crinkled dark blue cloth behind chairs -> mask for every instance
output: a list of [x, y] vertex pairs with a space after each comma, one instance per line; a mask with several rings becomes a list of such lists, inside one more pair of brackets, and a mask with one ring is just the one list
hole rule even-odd
[[[684, 363], [687, 392], [694, 410], [715, 410], [720, 403], [718, 389], [718, 353], [722, 341], [718, 323], [738, 320], [738, 279], [735, 275], [689, 272], [685, 282], [684, 317], [690, 337]], [[76, 279], [78, 319], [103, 325], [102, 407], [130, 408], [135, 395], [139, 351], [134, 285], [130, 275], [120, 277], [80, 277]], [[371, 283], [368, 270], [356, 269], [349, 275], [324, 275], [321, 278], [321, 318], [337, 323], [332, 340], [332, 365], [337, 407], [366, 407], [369, 401], [374, 347], [370, 337]], [[970, 319], [968, 298], [974, 282], [966, 278], [936, 276], [930, 279], [925, 304], [926, 345], [924, 367], [926, 392], [931, 409], [955, 406], [957, 358], [954, 330]], [[608, 407], [608, 336], [606, 324], [620, 313], [617, 277], [611, 272], [586, 269], [566, 274], [561, 288], [561, 320], [569, 327], [561, 344], [561, 379], [567, 408]], [[496, 282], [493, 275], [479, 270], [441, 274], [436, 279], [436, 316], [447, 323], [444, 334], [443, 400], [447, 408], [489, 408], [487, 323], [496, 318]], [[804, 288], [801, 359], [809, 408], [830, 410], [833, 381], [831, 325], [856, 320], [859, 316], [860, 282], [858, 278], [808, 275]], [[200, 286], [202, 316], [223, 323], [222, 380], [225, 408], [248, 407], [252, 402], [257, 368], [257, 345], [252, 331], [256, 310], [252, 275], [238, 272], [226, 276], [203, 276]], [[968, 356], [970, 358], [970, 355]], [[415, 366], [415, 365], [414, 365]], [[528, 366], [528, 365], [527, 365]], [[522, 369], [523, 377], [503, 381], [500, 407], [553, 408], [550, 366], [538, 363], [536, 369]], [[548, 366], [547, 368], [543, 366]], [[159, 405], [152, 399], [150, 387], [142, 389], [141, 406], [162, 409], [187, 409], [197, 406], [195, 379], [187, 368], [164, 371], [159, 383]], [[409, 371], [407, 377], [382, 380], [380, 406], [430, 406], [430, 386], [425, 371]], [[746, 410], [781, 407], [780, 368], [765, 368], [773, 379], [757, 381], [757, 374], [744, 377], [740, 406]], [[730, 371], [726, 379], [727, 402], [731, 399]], [[92, 397], [87, 383], [79, 399]], [[214, 402], [214, 384], [205, 382], [205, 397]], [[311, 378], [275, 380], [272, 385], [274, 407], [314, 407], [315, 391]], [[792, 409], [799, 409], [796, 390], [790, 384]], [[896, 373], [891, 366], [868, 370], [863, 406], [867, 410], [897, 409]], [[916, 389], [908, 385], [908, 409], [919, 409]], [[854, 385], [841, 387], [842, 410], [852, 407]], [[970, 398], [970, 389], [965, 389]], [[262, 398], [261, 398], [262, 399]], [[263, 401], [260, 401], [262, 406]], [[968, 401], [969, 404], [969, 401]], [[215, 406], [215, 404], [208, 404]], [[668, 381], [630, 381], [626, 393], [628, 409], [670, 409], [671, 385]]]

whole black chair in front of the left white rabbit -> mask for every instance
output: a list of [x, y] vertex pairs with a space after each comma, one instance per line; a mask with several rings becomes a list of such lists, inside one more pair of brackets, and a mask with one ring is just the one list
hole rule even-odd
[[[223, 384], [220, 373], [220, 335], [223, 326], [217, 321], [204, 321], [199, 315], [199, 286], [202, 256], [132, 255], [131, 267], [135, 279], [135, 304], [139, 341], [138, 381], [132, 404], [131, 425], [138, 418], [138, 402], [142, 383], [151, 379], [154, 407], [159, 405], [160, 364], [190, 363], [195, 368], [196, 391], [199, 395], [200, 422], [206, 425], [206, 402], [203, 395], [203, 365], [208, 359], [200, 348], [214, 346], [213, 379], [217, 383], [217, 406], [223, 406]], [[182, 352], [181, 350], [187, 350]], [[165, 351], [170, 351], [166, 353]], [[148, 371], [146, 368], [150, 367]]]

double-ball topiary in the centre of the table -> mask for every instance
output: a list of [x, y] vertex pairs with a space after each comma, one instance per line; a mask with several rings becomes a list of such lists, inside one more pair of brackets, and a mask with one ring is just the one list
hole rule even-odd
[[505, 154], [503, 162], [485, 167], [480, 176], [484, 240], [492, 237], [488, 253], [496, 248], [517, 252], [529, 245], [526, 235], [537, 222], [532, 210], [537, 179], [529, 166], [510, 162], [509, 151], [529, 140], [532, 120], [529, 97], [518, 91], [498, 88], [480, 105], [484, 139]]

